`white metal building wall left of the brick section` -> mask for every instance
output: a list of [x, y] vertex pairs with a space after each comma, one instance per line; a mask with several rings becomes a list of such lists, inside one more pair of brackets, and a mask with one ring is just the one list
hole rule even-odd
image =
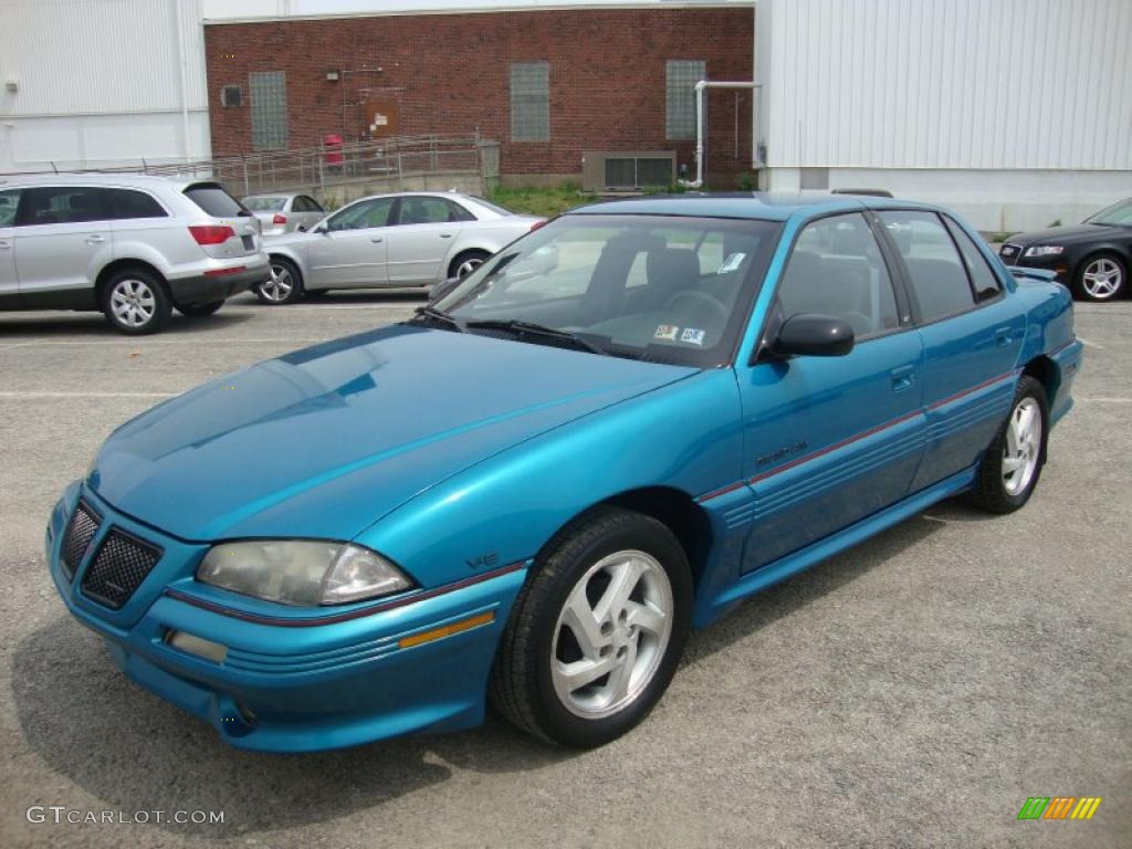
[[201, 16], [201, 0], [0, 0], [0, 171], [207, 157]]

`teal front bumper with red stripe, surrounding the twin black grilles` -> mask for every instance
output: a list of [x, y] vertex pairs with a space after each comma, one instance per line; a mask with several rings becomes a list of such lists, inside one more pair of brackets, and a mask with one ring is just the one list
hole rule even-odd
[[[102, 523], [69, 580], [60, 551], [80, 496]], [[163, 549], [162, 559], [119, 610], [82, 589], [112, 526]], [[191, 575], [206, 550], [118, 513], [77, 483], [55, 505], [46, 531], [51, 576], [71, 615], [105, 638], [130, 678], [209, 722], [234, 746], [310, 752], [482, 721], [491, 662], [525, 564], [449, 585], [456, 588], [451, 591], [418, 591], [419, 601], [380, 612], [368, 614], [365, 604], [320, 608], [323, 618], [340, 610], [353, 618], [312, 625], [303, 621], [311, 618], [309, 609], [198, 584]], [[471, 618], [483, 624], [402, 644], [405, 637]], [[175, 649], [166, 642], [171, 631], [220, 643], [226, 657], [214, 662]]]

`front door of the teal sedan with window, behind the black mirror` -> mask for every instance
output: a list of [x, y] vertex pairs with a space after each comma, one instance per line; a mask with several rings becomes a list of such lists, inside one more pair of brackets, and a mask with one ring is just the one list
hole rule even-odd
[[812, 222], [781, 275], [767, 328], [795, 315], [847, 320], [843, 357], [761, 355], [739, 368], [744, 474], [754, 518], [744, 571], [903, 498], [923, 454], [923, 343], [893, 285], [873, 226], [859, 213]]

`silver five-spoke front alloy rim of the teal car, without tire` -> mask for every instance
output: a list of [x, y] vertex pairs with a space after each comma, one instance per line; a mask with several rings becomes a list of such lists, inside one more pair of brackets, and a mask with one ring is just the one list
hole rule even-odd
[[601, 719], [649, 686], [672, 631], [672, 585], [644, 551], [603, 557], [571, 590], [558, 616], [551, 679], [563, 706]]

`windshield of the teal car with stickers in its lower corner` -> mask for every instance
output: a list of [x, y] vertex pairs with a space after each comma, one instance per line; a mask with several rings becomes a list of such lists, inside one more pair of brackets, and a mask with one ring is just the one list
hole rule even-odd
[[779, 231], [753, 220], [566, 215], [505, 248], [432, 307], [470, 332], [533, 324], [602, 353], [721, 366], [735, 355]]

